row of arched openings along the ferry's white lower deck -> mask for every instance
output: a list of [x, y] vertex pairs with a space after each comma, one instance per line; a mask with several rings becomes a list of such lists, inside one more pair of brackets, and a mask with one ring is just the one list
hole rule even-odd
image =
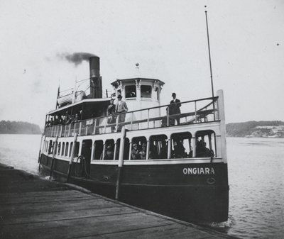
[[[195, 143], [193, 141], [195, 139]], [[55, 142], [45, 142], [45, 152], [53, 153]], [[195, 150], [193, 150], [195, 147]], [[73, 143], [58, 143], [56, 155], [71, 157]], [[79, 152], [87, 160], [119, 160], [120, 139], [83, 140], [80, 151], [80, 143], [75, 143], [74, 157]], [[152, 135], [147, 141], [146, 137], [125, 138], [124, 160], [156, 160], [190, 157], [216, 157], [216, 139], [212, 130], [198, 131], [195, 138], [189, 132], [173, 133], [170, 138], [167, 135]]]

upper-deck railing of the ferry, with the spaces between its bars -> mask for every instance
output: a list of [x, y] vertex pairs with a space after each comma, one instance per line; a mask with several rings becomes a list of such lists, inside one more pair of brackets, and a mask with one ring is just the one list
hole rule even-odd
[[[56, 135], [71, 137], [75, 133], [77, 135], [97, 135], [119, 132], [122, 126], [126, 130], [141, 130], [219, 121], [217, 99], [218, 97], [184, 101], [119, 113], [114, 116], [89, 118], [67, 125], [48, 126], [45, 127], [45, 135], [50, 137]], [[176, 109], [180, 109], [181, 113], [177, 113]]]

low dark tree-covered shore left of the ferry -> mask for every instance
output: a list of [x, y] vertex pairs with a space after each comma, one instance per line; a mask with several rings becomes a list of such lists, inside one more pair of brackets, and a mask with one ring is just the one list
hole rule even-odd
[[40, 134], [40, 126], [22, 121], [0, 121], [0, 133]]

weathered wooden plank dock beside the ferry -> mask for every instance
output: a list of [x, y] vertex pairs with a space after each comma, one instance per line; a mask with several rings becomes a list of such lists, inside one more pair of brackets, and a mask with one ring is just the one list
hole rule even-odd
[[0, 238], [233, 238], [0, 165]]

